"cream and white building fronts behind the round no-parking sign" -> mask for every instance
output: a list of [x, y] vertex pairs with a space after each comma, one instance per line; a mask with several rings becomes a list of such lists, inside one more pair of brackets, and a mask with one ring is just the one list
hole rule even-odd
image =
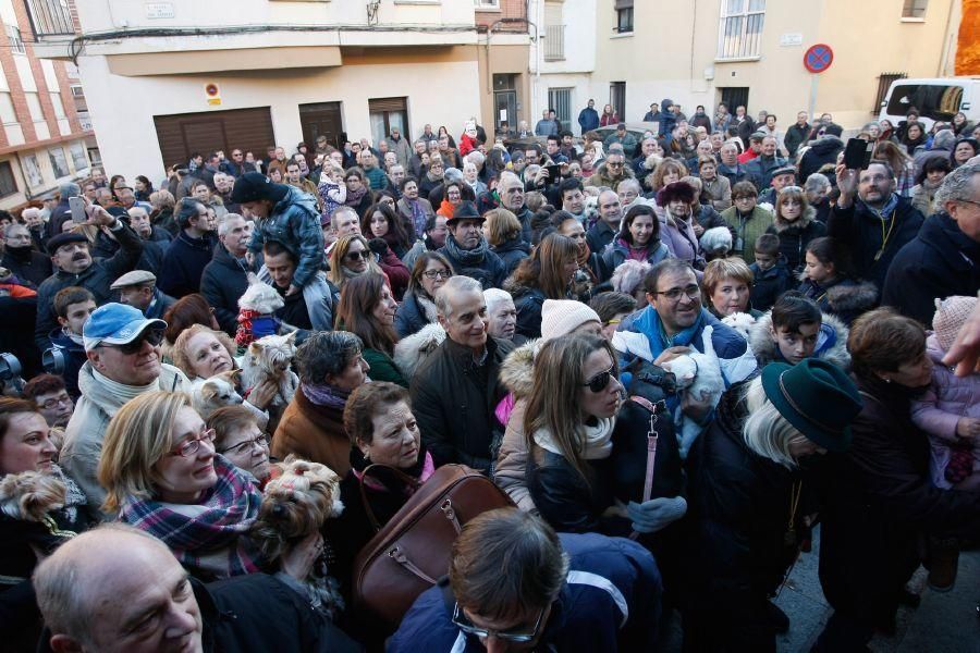
[[[627, 122], [670, 98], [687, 115], [727, 101], [754, 116], [775, 113], [782, 128], [799, 110], [857, 128], [878, 114], [896, 76], [952, 74], [961, 1], [529, 0], [550, 52], [535, 111], [554, 107], [576, 134], [589, 98], [599, 111], [612, 103]], [[804, 54], [821, 44], [833, 61], [810, 73]]]

